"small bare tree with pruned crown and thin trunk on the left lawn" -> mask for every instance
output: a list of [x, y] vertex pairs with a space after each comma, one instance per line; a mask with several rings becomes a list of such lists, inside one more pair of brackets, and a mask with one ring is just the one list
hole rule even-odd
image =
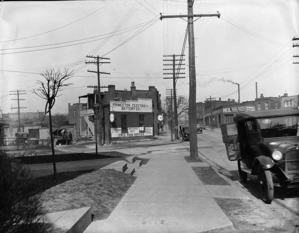
[[[70, 86], [72, 83], [68, 83], [68, 79], [72, 77], [73, 71], [68, 71], [64, 68], [64, 71], [60, 69], [47, 69], [40, 74], [45, 78], [45, 81], [38, 80], [36, 83], [40, 85], [38, 89], [33, 89], [32, 93], [40, 96], [40, 98], [47, 100], [45, 107], [45, 114], [49, 113], [49, 122], [50, 122], [50, 137], [51, 137], [51, 146], [52, 146], [52, 156], [53, 156], [53, 170], [54, 170], [54, 180], [56, 180], [56, 164], [55, 164], [55, 152], [54, 152], [54, 139], [53, 139], [53, 130], [52, 130], [52, 118], [51, 118], [51, 109], [55, 104], [55, 98], [61, 96], [58, 95], [62, 91], [62, 87]], [[47, 110], [48, 108], [48, 110]]]

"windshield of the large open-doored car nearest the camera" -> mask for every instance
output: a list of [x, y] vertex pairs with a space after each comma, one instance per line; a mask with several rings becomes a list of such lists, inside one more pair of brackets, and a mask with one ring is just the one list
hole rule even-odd
[[261, 137], [297, 136], [298, 116], [257, 119]]

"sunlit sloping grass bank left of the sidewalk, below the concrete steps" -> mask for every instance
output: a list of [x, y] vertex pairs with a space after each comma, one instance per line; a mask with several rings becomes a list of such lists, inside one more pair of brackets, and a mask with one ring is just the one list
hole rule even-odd
[[136, 177], [116, 170], [93, 170], [41, 177], [41, 202], [45, 212], [91, 207], [94, 220], [107, 218]]

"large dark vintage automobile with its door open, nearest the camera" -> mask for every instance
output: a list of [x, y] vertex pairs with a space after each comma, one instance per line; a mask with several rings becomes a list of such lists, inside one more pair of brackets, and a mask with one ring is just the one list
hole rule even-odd
[[242, 182], [257, 175], [261, 199], [273, 200], [273, 182], [299, 187], [299, 109], [274, 109], [236, 114], [222, 124], [227, 157], [237, 161]]

